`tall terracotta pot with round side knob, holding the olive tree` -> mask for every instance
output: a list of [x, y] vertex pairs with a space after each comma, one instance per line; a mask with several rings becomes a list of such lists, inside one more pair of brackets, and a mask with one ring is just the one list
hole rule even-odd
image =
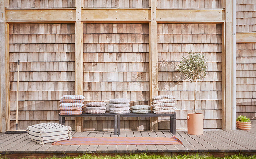
[[188, 134], [202, 135], [204, 128], [204, 115], [202, 113], [188, 113]]

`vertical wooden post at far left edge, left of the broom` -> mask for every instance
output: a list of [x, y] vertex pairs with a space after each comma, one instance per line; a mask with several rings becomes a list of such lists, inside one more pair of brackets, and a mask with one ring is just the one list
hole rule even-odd
[[9, 24], [5, 22], [6, 1], [0, 1], [0, 132], [10, 130], [9, 122]]

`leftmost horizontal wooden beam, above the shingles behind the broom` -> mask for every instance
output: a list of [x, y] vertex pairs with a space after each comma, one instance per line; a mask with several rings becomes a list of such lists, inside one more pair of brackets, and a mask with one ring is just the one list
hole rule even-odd
[[7, 22], [76, 21], [75, 9], [6, 9]]

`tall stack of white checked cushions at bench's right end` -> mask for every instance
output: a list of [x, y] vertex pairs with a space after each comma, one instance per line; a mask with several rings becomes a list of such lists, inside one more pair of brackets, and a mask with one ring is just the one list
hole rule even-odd
[[176, 101], [172, 95], [159, 95], [152, 98], [153, 112], [156, 114], [173, 114], [176, 113]]

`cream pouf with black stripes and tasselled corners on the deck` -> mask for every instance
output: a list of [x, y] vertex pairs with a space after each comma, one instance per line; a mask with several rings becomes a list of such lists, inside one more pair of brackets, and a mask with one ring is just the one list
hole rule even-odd
[[44, 145], [48, 142], [71, 140], [71, 127], [58, 123], [40, 123], [28, 126], [28, 137], [30, 140]]

